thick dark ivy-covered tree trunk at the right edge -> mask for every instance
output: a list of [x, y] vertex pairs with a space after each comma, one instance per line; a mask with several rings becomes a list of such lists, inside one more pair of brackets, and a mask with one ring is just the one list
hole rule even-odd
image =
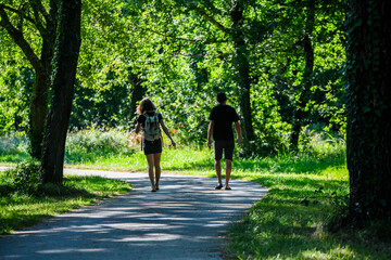
[[350, 220], [391, 218], [390, 1], [350, 1], [346, 161]]

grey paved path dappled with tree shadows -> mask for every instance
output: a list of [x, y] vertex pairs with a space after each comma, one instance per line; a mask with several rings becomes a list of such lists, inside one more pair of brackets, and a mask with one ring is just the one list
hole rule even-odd
[[0, 259], [223, 259], [227, 224], [267, 192], [238, 180], [231, 191], [215, 191], [215, 179], [163, 173], [161, 190], [151, 193], [147, 173], [71, 172], [134, 188], [1, 237]]

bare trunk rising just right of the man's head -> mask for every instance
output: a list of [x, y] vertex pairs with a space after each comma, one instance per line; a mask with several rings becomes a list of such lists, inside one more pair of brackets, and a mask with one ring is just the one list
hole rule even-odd
[[[250, 98], [250, 65], [248, 61], [248, 47], [244, 41], [243, 35], [243, 2], [232, 1], [231, 8], [231, 21], [232, 31], [231, 37], [235, 47], [235, 56], [232, 64], [235, 67], [235, 81], [237, 82], [239, 90], [239, 107], [243, 115], [244, 126], [244, 146], [251, 150], [249, 146], [251, 141], [254, 141], [254, 129], [252, 126], [252, 113], [251, 113], [251, 98]], [[249, 151], [247, 151], [249, 152]]]

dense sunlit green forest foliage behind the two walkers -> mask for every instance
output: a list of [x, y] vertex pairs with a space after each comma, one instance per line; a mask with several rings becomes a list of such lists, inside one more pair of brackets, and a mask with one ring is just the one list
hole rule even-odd
[[[39, 57], [43, 18], [29, 1], [2, 2]], [[243, 155], [297, 151], [313, 130], [345, 134], [342, 0], [89, 0], [81, 12], [71, 130], [131, 130], [137, 102], [149, 96], [178, 140], [204, 144], [225, 91], [241, 116]], [[37, 70], [3, 21], [0, 133], [28, 132]]]

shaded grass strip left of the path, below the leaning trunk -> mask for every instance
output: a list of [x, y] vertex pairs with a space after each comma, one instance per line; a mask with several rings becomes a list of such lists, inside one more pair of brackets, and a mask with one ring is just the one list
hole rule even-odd
[[[7, 174], [0, 172], [0, 185], [7, 181]], [[65, 176], [63, 185], [46, 185], [37, 194], [3, 194], [0, 198], [0, 234], [125, 193], [130, 187], [129, 183], [100, 177]]]

